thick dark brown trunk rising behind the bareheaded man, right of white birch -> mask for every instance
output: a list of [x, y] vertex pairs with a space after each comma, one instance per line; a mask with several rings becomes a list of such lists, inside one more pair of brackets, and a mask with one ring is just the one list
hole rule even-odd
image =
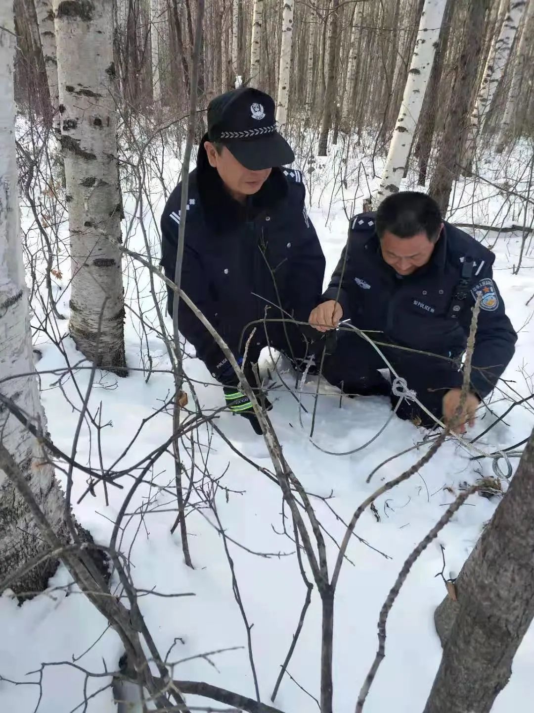
[[429, 194], [446, 214], [451, 196], [452, 182], [461, 165], [461, 150], [468, 125], [471, 96], [480, 58], [483, 27], [489, 0], [466, 0], [464, 37], [461, 53], [456, 62], [456, 75], [451, 91], [451, 101], [446, 112], [445, 127], [439, 144], [436, 168], [432, 175]]

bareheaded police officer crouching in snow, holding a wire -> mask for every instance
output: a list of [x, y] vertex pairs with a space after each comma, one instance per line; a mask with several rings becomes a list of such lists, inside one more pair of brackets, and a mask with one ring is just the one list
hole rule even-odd
[[[481, 294], [464, 431], [513, 356], [517, 339], [493, 282], [494, 259], [473, 237], [444, 222], [426, 194], [390, 195], [376, 214], [352, 219], [347, 246], [310, 324], [324, 332], [350, 319], [369, 330], [375, 342], [387, 344], [379, 348], [419, 401], [434, 416], [449, 420], [459, 406], [460, 360], [471, 308]], [[343, 331], [323, 374], [347, 394], [389, 394], [389, 381], [377, 371], [384, 366], [369, 342]], [[424, 426], [433, 424], [407, 400], [397, 413]]]

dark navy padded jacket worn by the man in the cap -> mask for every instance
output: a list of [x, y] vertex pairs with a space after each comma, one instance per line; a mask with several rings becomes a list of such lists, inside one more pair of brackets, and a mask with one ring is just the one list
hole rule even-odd
[[[162, 219], [162, 266], [174, 280], [181, 183], [167, 200]], [[201, 148], [189, 175], [182, 289], [209, 319], [235, 356], [244, 351], [248, 323], [279, 319], [281, 306], [307, 321], [323, 289], [325, 258], [305, 210], [302, 174], [273, 168], [261, 190], [245, 206], [224, 189], [219, 174]], [[173, 293], [168, 310], [172, 314]], [[275, 305], [272, 307], [271, 305]], [[253, 325], [254, 326], [254, 325]], [[199, 319], [179, 303], [179, 331], [197, 356], [217, 375], [224, 355]], [[256, 324], [255, 351], [266, 344], [265, 328]]]

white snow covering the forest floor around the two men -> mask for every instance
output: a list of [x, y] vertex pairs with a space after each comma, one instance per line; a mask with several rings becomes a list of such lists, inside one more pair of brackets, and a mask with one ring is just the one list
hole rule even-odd
[[[318, 173], [328, 170], [332, 170], [331, 165], [319, 167]], [[177, 180], [179, 163], [169, 165], [167, 171], [169, 175], [174, 171]], [[355, 195], [362, 195], [362, 191], [358, 194], [360, 189], [350, 180], [344, 195], [335, 188], [334, 180], [324, 182], [323, 188], [320, 177], [314, 177], [314, 181], [310, 217], [327, 257], [328, 279], [346, 238], [347, 217], [343, 204], [350, 202]], [[170, 178], [169, 186], [172, 186]], [[455, 222], [489, 225], [491, 220], [498, 220], [508, 197], [503, 197], [498, 191], [491, 198], [483, 193], [484, 190], [480, 189], [474, 195], [471, 184], [463, 184], [458, 195], [471, 195], [466, 201], [471, 214], [468, 215], [469, 210], [466, 209], [461, 215], [461, 205], [455, 202]], [[163, 198], [157, 195], [156, 190], [153, 198], [155, 215], [159, 217]], [[474, 204], [480, 207], [476, 209], [478, 212], [473, 221]], [[130, 198], [126, 201], [125, 222], [126, 229], [129, 220], [132, 220], [128, 247], [145, 252], [142, 232], [132, 218], [132, 210]], [[347, 210], [350, 212], [349, 208]], [[508, 216], [505, 225], [512, 222], [522, 223], [523, 216]], [[157, 229], [146, 204], [145, 225], [150, 242], [157, 246]], [[66, 226], [62, 230], [66, 235]], [[513, 394], [513, 388], [525, 396], [534, 391], [531, 378], [534, 369], [531, 321], [534, 299], [530, 305], [526, 304], [534, 293], [532, 245], [530, 243], [530, 252], [527, 251], [523, 257], [519, 274], [513, 275], [512, 267], [517, 264], [521, 236], [507, 233], [497, 237], [496, 232], [479, 232], [477, 237], [495, 242], [495, 277], [508, 314], [519, 331], [518, 348], [506, 371], [510, 384], [503, 385], [502, 391], [505, 395]], [[156, 247], [154, 254], [157, 254]], [[63, 285], [68, 282], [67, 265], [64, 267], [63, 280], [57, 281], [54, 289], [56, 294], [61, 294], [61, 311], [68, 314], [68, 291], [62, 292]], [[141, 270], [139, 265], [136, 270], [137, 285], [133, 279], [134, 266], [128, 262], [127, 298], [137, 312], [139, 292], [145, 319], [156, 323], [153, 308], [151, 312], [152, 298], [147, 289], [146, 271]], [[58, 329], [65, 334], [67, 322], [58, 322]], [[122, 456], [122, 451], [143, 419], [153, 416], [161, 408], [173, 387], [172, 375], [167, 373], [167, 352], [161, 340], [150, 331], [145, 337], [140, 331], [138, 317], [129, 310], [126, 340], [129, 366], [137, 368], [147, 364], [147, 350], [150, 350], [155, 371], [148, 382], [143, 371], [132, 371], [127, 379], [116, 379], [110, 374], [98, 372], [89, 409], [93, 415], [100, 409], [101, 422], [106, 424], [100, 434], [105, 466]], [[70, 453], [78, 420], [75, 409], [82, 403], [89, 371], [75, 371], [80, 393], [70, 376], [63, 378], [60, 389], [58, 374], [51, 374], [50, 371], [63, 369], [64, 357], [47, 339], [41, 337], [39, 341], [43, 357], [38, 362], [38, 369], [41, 371], [48, 426], [56, 446]], [[62, 344], [70, 364], [77, 364], [80, 354], [75, 351], [70, 339], [63, 339]], [[203, 364], [187, 359], [186, 370], [190, 379], [197, 380], [197, 396], [204, 409], [219, 408], [223, 403], [221, 388], [211, 382]], [[293, 379], [294, 385], [294, 376], [286, 376], [289, 381]], [[315, 387], [314, 377], [308, 379], [303, 389], [302, 402], [310, 412], [313, 410]], [[313, 493], [313, 506], [325, 533], [328, 533], [325, 538], [332, 568], [337, 554], [335, 543], [340, 542], [345, 532], [342, 520], [347, 522], [355, 508], [380, 484], [411, 466], [424, 452], [424, 446], [387, 463], [369, 485], [365, 483], [367, 476], [389, 456], [422, 441], [424, 432], [394, 418], [384, 433], [364, 450], [350, 456], [327, 455], [320, 448], [350, 451], [370, 440], [387, 420], [389, 402], [380, 397], [369, 397], [343, 399], [340, 404], [334, 389], [321, 386], [320, 391], [313, 443], [309, 438], [310, 414], [302, 412], [299, 416], [298, 401], [282, 386], [271, 392], [274, 402], [271, 419], [288, 463], [308, 493]], [[496, 414], [503, 413], [510, 406], [510, 401], [503, 394], [496, 392], [493, 396], [492, 408]], [[66, 396], [72, 406], [66, 401]], [[192, 399], [190, 404], [193, 404]], [[493, 418], [489, 414], [483, 415], [468, 434], [469, 438], [486, 429]], [[266, 446], [261, 438], [254, 436], [243, 419], [222, 413], [216, 422], [235, 448], [258, 466], [270, 467]], [[533, 424], [532, 407], [528, 404], [516, 406], [506, 417], [506, 424], [498, 424], [477, 442], [477, 446], [488, 453], [506, 448], [528, 436]], [[120, 461], [120, 467], [133, 467], [147, 453], [160, 446], [168, 438], [171, 425], [171, 416], [166, 411], [148, 420], [140, 430], [135, 445]], [[125, 528], [121, 548], [123, 552], [130, 553], [132, 577], [137, 588], [154, 589], [160, 594], [194, 595], [161, 597], [147, 594], [140, 598], [142, 613], [159, 651], [164, 655], [174, 642], [169, 655], [169, 662], [178, 662], [174, 667], [174, 677], [206, 681], [253, 698], [246, 628], [232, 591], [224, 542], [217, 531], [214, 512], [206, 504], [206, 499], [214, 496], [221, 526], [229, 538], [228, 546], [246, 617], [253, 625], [251, 640], [261, 699], [269, 702], [305, 600], [305, 585], [300, 577], [295, 545], [283, 534], [281, 491], [256, 468], [236, 456], [209, 426], [201, 427], [194, 438], [192, 503], [197, 508], [187, 517], [194, 569], [184, 565], [179, 531], [170, 534], [176, 511], [172, 495], [174, 461], [169, 453], [164, 453], [155, 464], [150, 475], [151, 484], [138, 488], [132, 498], [123, 521]], [[182, 457], [186, 468], [190, 468], [192, 443], [186, 441], [186, 445], [189, 452], [182, 448]], [[95, 428], [86, 421], [76, 457], [80, 463], [90, 463], [98, 468], [98, 452]], [[491, 459], [471, 461], [470, 456], [471, 453], [459, 444], [453, 441], [446, 443], [416, 476], [377, 500], [379, 522], [370, 511], [362, 515], [356, 533], [371, 546], [352, 539], [335, 599], [336, 713], [354, 710], [357, 693], [377, 648], [379, 610], [404, 560], [441, 517], [444, 507], [454, 500], [461, 483], [475, 481], [480, 469], [484, 475], [493, 473]], [[513, 458], [512, 463], [515, 467], [517, 458]], [[137, 471], [132, 470], [134, 473]], [[205, 473], [217, 480], [218, 489], [214, 491]], [[108, 506], [102, 486], [95, 488], [95, 497], [87, 496], [74, 506], [77, 518], [100, 543], [109, 541], [131, 477], [125, 476], [121, 482], [124, 490], [108, 488]], [[85, 474], [75, 472], [73, 503], [86, 486]], [[441, 531], [438, 540], [417, 560], [389, 616], [386, 657], [367, 699], [368, 713], [414, 713], [423, 709], [441, 657], [432, 618], [434, 608], [446, 593], [443, 580], [436, 577], [443, 568], [441, 545], [446, 560], [445, 575], [448, 577], [452, 573], [454, 576], [473, 548], [483, 523], [491, 518], [496, 504], [496, 499], [488, 500], [481, 496], [469, 498], [451, 523]], [[18, 607], [9, 595], [1, 597], [1, 711], [30, 713], [38, 702], [41, 713], [83, 710], [85, 676], [68, 665], [69, 662], [98, 674], [105, 672], [105, 667], [108, 671], [117, 670], [122, 653], [117, 635], [107, 629], [103, 617], [75, 588], [66, 591], [63, 585], [68, 583], [68, 579], [66, 570], [60, 568], [51, 580], [50, 591], [22, 607]], [[208, 660], [205, 656], [208, 652], [216, 653]], [[534, 630], [531, 629], [515, 657], [511, 681], [497, 699], [496, 713], [512, 710], [520, 713], [530, 709], [533, 661]], [[45, 662], [53, 662], [54, 665], [45, 668], [40, 688], [35, 684], [39, 679], [38, 673], [28, 672], [35, 672]], [[274, 704], [286, 713], [315, 709], [316, 703], [300, 688], [306, 689], [315, 698], [319, 697], [320, 600], [315, 590], [288, 672], [294, 682], [289, 676], [284, 677]], [[33, 684], [16, 686], [3, 679]], [[109, 679], [102, 677], [88, 679], [88, 695], [108, 682]], [[206, 704], [203, 699], [191, 699], [189, 702], [192, 705]], [[115, 709], [110, 688], [90, 699], [86, 708], [89, 713], [112, 713]]]

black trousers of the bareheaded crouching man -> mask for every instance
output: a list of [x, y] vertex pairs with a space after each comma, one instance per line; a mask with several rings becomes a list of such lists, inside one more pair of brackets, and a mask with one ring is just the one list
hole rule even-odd
[[[386, 340], [377, 338], [377, 341]], [[397, 374], [406, 379], [408, 388], [416, 392], [426, 409], [441, 419], [441, 402], [446, 391], [459, 386], [457, 364], [449, 358], [409, 352], [393, 345], [379, 345], [379, 349]], [[396, 406], [399, 397], [392, 394], [389, 384], [378, 369], [387, 369], [387, 365], [376, 349], [358, 334], [344, 332], [337, 340], [335, 352], [325, 358], [323, 376], [345, 394], [367, 396], [389, 393], [392, 406]], [[406, 399], [400, 404], [397, 415], [423, 426], [434, 425], [434, 421], [417, 404], [409, 403]]]

